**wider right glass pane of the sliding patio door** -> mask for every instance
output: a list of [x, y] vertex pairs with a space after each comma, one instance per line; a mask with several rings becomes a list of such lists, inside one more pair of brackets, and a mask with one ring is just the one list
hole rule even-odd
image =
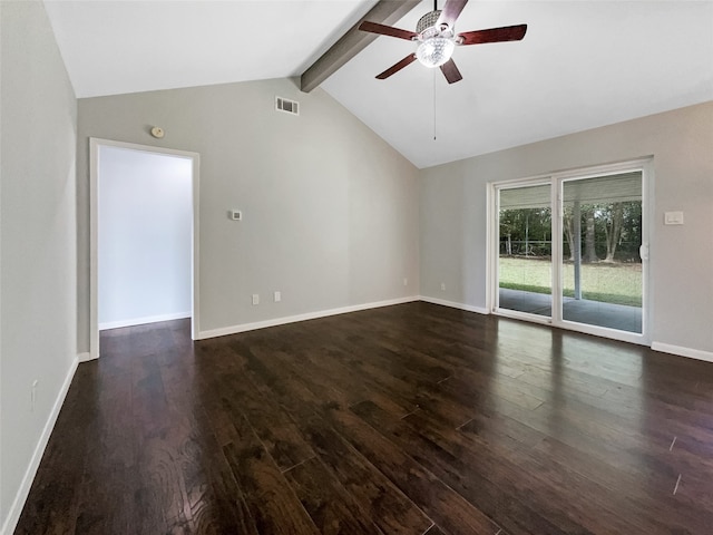
[[642, 332], [642, 172], [563, 182], [561, 318]]

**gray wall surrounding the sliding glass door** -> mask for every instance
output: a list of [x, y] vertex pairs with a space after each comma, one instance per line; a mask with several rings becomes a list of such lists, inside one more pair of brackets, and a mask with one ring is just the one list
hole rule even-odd
[[[652, 338], [712, 352], [711, 147], [713, 103], [706, 103], [423, 169], [421, 294], [486, 307], [487, 183], [653, 155]], [[685, 224], [664, 226], [667, 211], [683, 211]]]

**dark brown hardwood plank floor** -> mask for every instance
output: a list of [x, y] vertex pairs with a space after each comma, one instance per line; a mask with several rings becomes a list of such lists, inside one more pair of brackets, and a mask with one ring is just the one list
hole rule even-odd
[[713, 534], [713, 364], [427, 303], [106, 331], [17, 534]]

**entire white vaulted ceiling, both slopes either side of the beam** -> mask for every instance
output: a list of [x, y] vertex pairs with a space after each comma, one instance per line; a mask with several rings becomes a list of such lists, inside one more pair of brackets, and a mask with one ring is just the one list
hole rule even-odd
[[[89, 97], [296, 76], [375, 0], [45, 3]], [[711, 0], [470, 0], [457, 30], [518, 23], [522, 41], [458, 48], [451, 86], [418, 62], [375, 80], [413, 50], [379, 37], [322, 87], [418, 167], [713, 100]]]

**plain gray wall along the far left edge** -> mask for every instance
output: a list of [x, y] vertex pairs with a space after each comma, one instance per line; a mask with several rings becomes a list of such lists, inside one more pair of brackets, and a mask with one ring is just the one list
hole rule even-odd
[[76, 364], [77, 110], [41, 2], [1, 2], [0, 35], [0, 525], [11, 531]]

